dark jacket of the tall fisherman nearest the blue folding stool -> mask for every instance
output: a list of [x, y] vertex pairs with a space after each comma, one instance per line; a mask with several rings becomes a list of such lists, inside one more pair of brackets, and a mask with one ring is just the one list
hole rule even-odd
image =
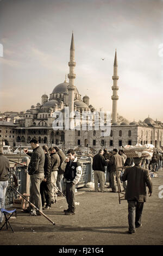
[[33, 153], [27, 153], [29, 156], [31, 156], [29, 166], [28, 166], [28, 174], [40, 174], [44, 173], [44, 162], [45, 162], [45, 153], [43, 149], [38, 146], [33, 150]]

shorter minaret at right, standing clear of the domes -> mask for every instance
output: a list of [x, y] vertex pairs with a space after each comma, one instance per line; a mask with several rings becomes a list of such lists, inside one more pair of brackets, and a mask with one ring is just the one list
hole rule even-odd
[[113, 86], [112, 88], [112, 92], [113, 95], [111, 96], [112, 99], [112, 123], [116, 123], [117, 121], [117, 100], [118, 100], [118, 95], [117, 95], [117, 91], [119, 89], [119, 87], [117, 86], [117, 81], [118, 81], [118, 76], [117, 76], [117, 52], [115, 52], [115, 59], [114, 59], [114, 75], [112, 76], [112, 80], [113, 80]]

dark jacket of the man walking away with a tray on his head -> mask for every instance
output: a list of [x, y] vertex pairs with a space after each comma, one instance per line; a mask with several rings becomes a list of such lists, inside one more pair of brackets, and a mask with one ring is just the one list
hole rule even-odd
[[146, 202], [147, 192], [146, 184], [149, 192], [152, 193], [152, 181], [149, 176], [149, 171], [135, 164], [133, 167], [126, 168], [122, 175], [122, 181], [127, 180], [127, 188], [125, 199], [136, 200], [138, 202]]

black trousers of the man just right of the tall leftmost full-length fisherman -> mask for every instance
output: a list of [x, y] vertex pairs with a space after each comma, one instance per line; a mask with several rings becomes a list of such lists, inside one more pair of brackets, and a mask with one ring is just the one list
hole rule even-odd
[[51, 207], [51, 193], [52, 193], [52, 184], [51, 182], [42, 181], [40, 184], [40, 193], [42, 206], [46, 203], [47, 206]]

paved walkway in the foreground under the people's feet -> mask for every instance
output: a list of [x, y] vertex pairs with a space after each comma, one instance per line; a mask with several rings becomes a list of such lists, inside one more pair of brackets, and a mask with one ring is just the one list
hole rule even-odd
[[[153, 194], [147, 197], [142, 215], [142, 227], [127, 234], [127, 201], [118, 202], [117, 193], [96, 193], [80, 188], [76, 193], [76, 215], [64, 215], [65, 198], [59, 198], [49, 211], [44, 211], [56, 225], [43, 216], [29, 216], [21, 210], [10, 223], [15, 232], [5, 228], [0, 232], [0, 245], [163, 245], [163, 198], [159, 198], [163, 170], [152, 178]], [[148, 189], [147, 189], [148, 192]]]

